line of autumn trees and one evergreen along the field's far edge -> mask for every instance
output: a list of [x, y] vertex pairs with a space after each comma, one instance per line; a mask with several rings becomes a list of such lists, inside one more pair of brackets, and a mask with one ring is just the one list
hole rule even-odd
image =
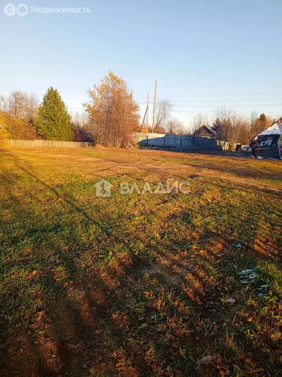
[[[91, 141], [108, 147], [123, 147], [132, 132], [146, 132], [141, 124], [140, 108], [126, 81], [109, 71], [98, 84], [88, 90], [85, 113], [72, 116], [57, 89], [47, 89], [42, 102], [36, 95], [22, 90], [0, 95], [0, 139], [47, 139]], [[148, 132], [202, 136], [203, 126], [216, 133], [219, 140], [248, 144], [252, 137], [275, 120], [253, 112], [250, 117], [225, 107], [218, 108], [213, 118], [197, 114], [189, 130], [172, 116], [170, 100], [157, 102], [155, 125]]]

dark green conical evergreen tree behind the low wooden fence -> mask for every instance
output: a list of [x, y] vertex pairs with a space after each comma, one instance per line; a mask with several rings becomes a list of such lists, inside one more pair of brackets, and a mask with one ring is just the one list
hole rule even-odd
[[71, 115], [59, 92], [52, 86], [43, 97], [34, 125], [38, 134], [47, 140], [72, 140]]

